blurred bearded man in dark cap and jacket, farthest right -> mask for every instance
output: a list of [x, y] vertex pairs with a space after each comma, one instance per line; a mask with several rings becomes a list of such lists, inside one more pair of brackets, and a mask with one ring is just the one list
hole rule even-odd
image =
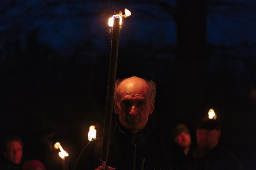
[[221, 126], [216, 120], [202, 121], [196, 130], [197, 147], [189, 156], [191, 170], [242, 170], [239, 160], [219, 144]]

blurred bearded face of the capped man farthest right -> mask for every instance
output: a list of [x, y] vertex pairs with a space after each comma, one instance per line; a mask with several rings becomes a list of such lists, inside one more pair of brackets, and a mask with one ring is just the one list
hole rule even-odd
[[198, 147], [212, 149], [218, 144], [218, 139], [220, 138], [220, 130], [206, 130], [198, 129], [196, 131], [196, 138]]

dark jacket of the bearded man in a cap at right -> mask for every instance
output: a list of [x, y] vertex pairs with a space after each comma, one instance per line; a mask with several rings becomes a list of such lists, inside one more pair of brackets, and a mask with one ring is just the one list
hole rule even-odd
[[191, 170], [242, 170], [241, 163], [232, 153], [219, 145], [202, 154], [195, 149], [189, 156]]

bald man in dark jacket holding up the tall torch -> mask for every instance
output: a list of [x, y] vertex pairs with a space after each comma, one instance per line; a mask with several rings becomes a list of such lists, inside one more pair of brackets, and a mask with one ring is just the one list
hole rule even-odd
[[[183, 150], [163, 141], [153, 130], [148, 116], [154, 111], [154, 81], [129, 77], [116, 81], [114, 111], [119, 119], [111, 134], [108, 170], [186, 170]], [[74, 170], [100, 170], [102, 139], [87, 144]]]

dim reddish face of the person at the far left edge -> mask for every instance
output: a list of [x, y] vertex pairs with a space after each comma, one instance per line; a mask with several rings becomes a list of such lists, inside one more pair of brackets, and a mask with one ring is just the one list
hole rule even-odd
[[19, 141], [7, 142], [7, 148], [4, 155], [14, 164], [19, 164], [22, 158], [22, 146]]

